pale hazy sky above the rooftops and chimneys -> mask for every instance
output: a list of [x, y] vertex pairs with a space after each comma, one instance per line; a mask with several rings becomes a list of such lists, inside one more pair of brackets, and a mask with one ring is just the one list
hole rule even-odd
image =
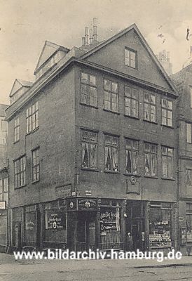
[[67, 48], [81, 46], [84, 27], [91, 27], [94, 17], [99, 41], [135, 22], [155, 54], [170, 51], [173, 72], [181, 70], [192, 46], [191, 0], [0, 0], [0, 4], [0, 103], [9, 104], [16, 78], [34, 81], [46, 40]]

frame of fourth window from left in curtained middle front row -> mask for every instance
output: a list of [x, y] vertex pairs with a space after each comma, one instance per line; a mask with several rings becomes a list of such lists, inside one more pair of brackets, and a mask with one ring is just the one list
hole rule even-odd
[[[145, 145], [149, 145], [150, 151], [146, 151]], [[156, 152], [152, 151], [152, 145], [156, 147]], [[149, 155], [149, 174], [146, 173], [146, 154]], [[152, 174], [153, 155], [155, 155], [155, 174]], [[148, 159], [147, 159], [148, 161]], [[158, 145], [156, 143], [149, 143], [144, 141], [144, 176], [151, 178], [158, 178]]]

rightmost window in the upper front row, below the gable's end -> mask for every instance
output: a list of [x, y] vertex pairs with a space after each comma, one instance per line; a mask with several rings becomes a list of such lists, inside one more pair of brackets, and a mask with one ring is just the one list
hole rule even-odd
[[172, 126], [172, 101], [161, 99], [162, 125]]

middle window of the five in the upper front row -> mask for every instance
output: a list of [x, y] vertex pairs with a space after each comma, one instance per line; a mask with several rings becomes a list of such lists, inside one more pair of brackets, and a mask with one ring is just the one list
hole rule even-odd
[[125, 115], [138, 117], [138, 91], [125, 86]]

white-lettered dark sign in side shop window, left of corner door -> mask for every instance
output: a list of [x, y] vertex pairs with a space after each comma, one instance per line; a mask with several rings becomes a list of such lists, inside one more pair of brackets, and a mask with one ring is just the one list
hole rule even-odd
[[65, 230], [65, 214], [63, 211], [46, 211], [46, 229], [49, 230]]

